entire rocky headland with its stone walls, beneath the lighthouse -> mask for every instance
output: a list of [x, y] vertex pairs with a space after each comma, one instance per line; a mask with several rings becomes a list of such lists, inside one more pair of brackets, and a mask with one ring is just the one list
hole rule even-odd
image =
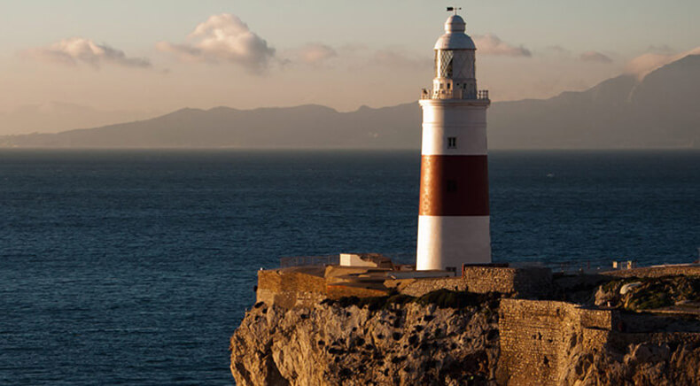
[[547, 279], [476, 267], [367, 297], [261, 273], [270, 301], [231, 336], [230, 369], [239, 385], [696, 385], [700, 277], [681, 268]]

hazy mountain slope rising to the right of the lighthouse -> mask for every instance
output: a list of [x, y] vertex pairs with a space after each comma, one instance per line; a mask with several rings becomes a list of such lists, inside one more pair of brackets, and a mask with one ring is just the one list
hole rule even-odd
[[642, 81], [621, 75], [547, 100], [494, 104], [489, 143], [498, 148], [700, 147], [700, 56]]

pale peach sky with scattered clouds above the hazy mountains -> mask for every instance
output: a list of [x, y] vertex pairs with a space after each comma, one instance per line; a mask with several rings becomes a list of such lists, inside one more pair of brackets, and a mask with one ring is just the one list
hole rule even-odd
[[463, 8], [494, 101], [642, 76], [700, 46], [697, 0], [0, 0], [0, 135], [183, 107], [408, 103], [432, 82], [446, 6]]

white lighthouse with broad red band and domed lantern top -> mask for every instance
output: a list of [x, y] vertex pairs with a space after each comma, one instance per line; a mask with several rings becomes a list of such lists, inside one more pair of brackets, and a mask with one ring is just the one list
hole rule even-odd
[[435, 43], [435, 78], [424, 89], [417, 270], [491, 262], [486, 109], [476, 46], [456, 9]]

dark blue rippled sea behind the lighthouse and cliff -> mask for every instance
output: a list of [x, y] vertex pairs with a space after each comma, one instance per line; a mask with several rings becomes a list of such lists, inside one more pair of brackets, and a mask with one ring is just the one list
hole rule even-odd
[[[498, 152], [494, 259], [685, 262], [698, 152]], [[0, 383], [231, 384], [281, 256], [410, 260], [417, 152], [0, 151]]]

